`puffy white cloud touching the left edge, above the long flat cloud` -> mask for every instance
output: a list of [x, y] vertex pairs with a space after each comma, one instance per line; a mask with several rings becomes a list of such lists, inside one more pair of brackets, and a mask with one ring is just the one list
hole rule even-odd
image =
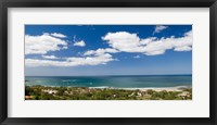
[[48, 51], [65, 49], [67, 42], [49, 34], [41, 36], [25, 35], [25, 54], [46, 54]]

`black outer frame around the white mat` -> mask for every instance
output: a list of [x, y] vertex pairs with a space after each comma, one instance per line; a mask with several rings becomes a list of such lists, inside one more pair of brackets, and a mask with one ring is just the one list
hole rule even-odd
[[[8, 117], [8, 8], [209, 8], [209, 117]], [[2, 0], [0, 1], [0, 124], [216, 125], [217, 0]]]

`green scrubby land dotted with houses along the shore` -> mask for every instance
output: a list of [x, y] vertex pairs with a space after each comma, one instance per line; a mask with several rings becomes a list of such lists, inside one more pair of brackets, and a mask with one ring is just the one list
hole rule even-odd
[[181, 91], [126, 90], [88, 87], [25, 86], [26, 100], [191, 100], [192, 89]]

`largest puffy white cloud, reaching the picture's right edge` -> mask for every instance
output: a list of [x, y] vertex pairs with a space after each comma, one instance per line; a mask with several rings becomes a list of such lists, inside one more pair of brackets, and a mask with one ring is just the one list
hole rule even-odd
[[106, 40], [113, 49], [122, 52], [140, 52], [146, 55], [163, 54], [166, 50], [190, 51], [192, 48], [192, 32], [188, 32], [183, 37], [140, 38], [137, 34], [127, 32], [107, 33], [103, 40]]

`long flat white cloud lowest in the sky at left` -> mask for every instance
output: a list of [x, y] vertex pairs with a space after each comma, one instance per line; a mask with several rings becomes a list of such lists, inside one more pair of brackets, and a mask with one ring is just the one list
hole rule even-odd
[[95, 57], [86, 58], [65, 58], [64, 61], [52, 61], [52, 60], [36, 60], [26, 59], [25, 66], [79, 66], [79, 65], [99, 65], [106, 64], [107, 62], [116, 61], [111, 54], [105, 53]]

